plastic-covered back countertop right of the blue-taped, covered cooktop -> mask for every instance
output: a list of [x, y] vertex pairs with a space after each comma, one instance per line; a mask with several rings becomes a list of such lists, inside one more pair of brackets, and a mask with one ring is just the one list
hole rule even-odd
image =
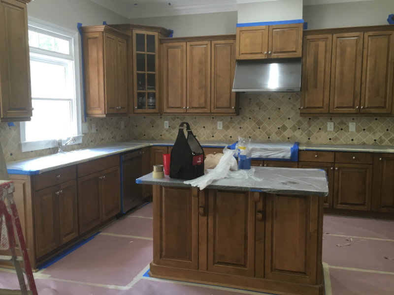
[[300, 150], [328, 150], [328, 151], [360, 151], [360, 152], [382, 152], [394, 153], [394, 146], [372, 146], [372, 145], [313, 145], [300, 144]]

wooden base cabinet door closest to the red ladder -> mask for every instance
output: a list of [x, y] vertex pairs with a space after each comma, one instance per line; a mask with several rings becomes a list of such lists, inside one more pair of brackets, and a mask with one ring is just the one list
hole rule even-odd
[[55, 195], [57, 191], [59, 186], [54, 185], [34, 193], [37, 258], [60, 245], [58, 200]]

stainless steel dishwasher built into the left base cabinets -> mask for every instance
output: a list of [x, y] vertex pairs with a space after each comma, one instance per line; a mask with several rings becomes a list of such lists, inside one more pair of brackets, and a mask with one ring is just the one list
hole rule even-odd
[[121, 154], [121, 205], [122, 212], [142, 203], [142, 185], [135, 183], [135, 179], [142, 174], [141, 149]]

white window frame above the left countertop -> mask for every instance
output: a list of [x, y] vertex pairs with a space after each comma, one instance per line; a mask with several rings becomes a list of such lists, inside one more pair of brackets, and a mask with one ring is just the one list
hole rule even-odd
[[[82, 143], [82, 111], [81, 111], [81, 98], [82, 90], [81, 90], [81, 72], [80, 72], [80, 54], [79, 54], [79, 33], [78, 31], [73, 31], [70, 29], [65, 29], [59, 27], [57, 25], [53, 25], [32, 17], [28, 18], [29, 29], [34, 28], [34, 31], [42, 32], [44, 34], [59, 37], [62, 35], [64, 39], [67, 39], [70, 42], [70, 54], [62, 54], [59, 52], [53, 52], [49, 50], [42, 50], [34, 47], [30, 48], [30, 54], [33, 57], [33, 60], [39, 60], [40, 58], [36, 56], [36, 54], [45, 54], [53, 57], [53, 58], [62, 58], [62, 59], [69, 59], [73, 60], [74, 65], [74, 97], [75, 97], [75, 108], [71, 108], [72, 112], [75, 112], [75, 120], [76, 120], [76, 127], [77, 127], [77, 134], [70, 134], [68, 138], [62, 138], [63, 141], [70, 139], [71, 137], [75, 138], [75, 143], [73, 144], [80, 144]], [[74, 115], [74, 114], [73, 114]], [[44, 148], [56, 148], [58, 146], [58, 139], [51, 139], [51, 140], [41, 140], [41, 141], [26, 141], [26, 122], [21, 122], [20, 129], [21, 129], [21, 147], [22, 151], [32, 151]]]

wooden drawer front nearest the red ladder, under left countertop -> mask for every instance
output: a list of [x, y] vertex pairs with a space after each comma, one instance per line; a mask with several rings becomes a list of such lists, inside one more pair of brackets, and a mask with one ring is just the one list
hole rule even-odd
[[34, 190], [59, 184], [76, 178], [75, 165], [48, 171], [34, 176]]

